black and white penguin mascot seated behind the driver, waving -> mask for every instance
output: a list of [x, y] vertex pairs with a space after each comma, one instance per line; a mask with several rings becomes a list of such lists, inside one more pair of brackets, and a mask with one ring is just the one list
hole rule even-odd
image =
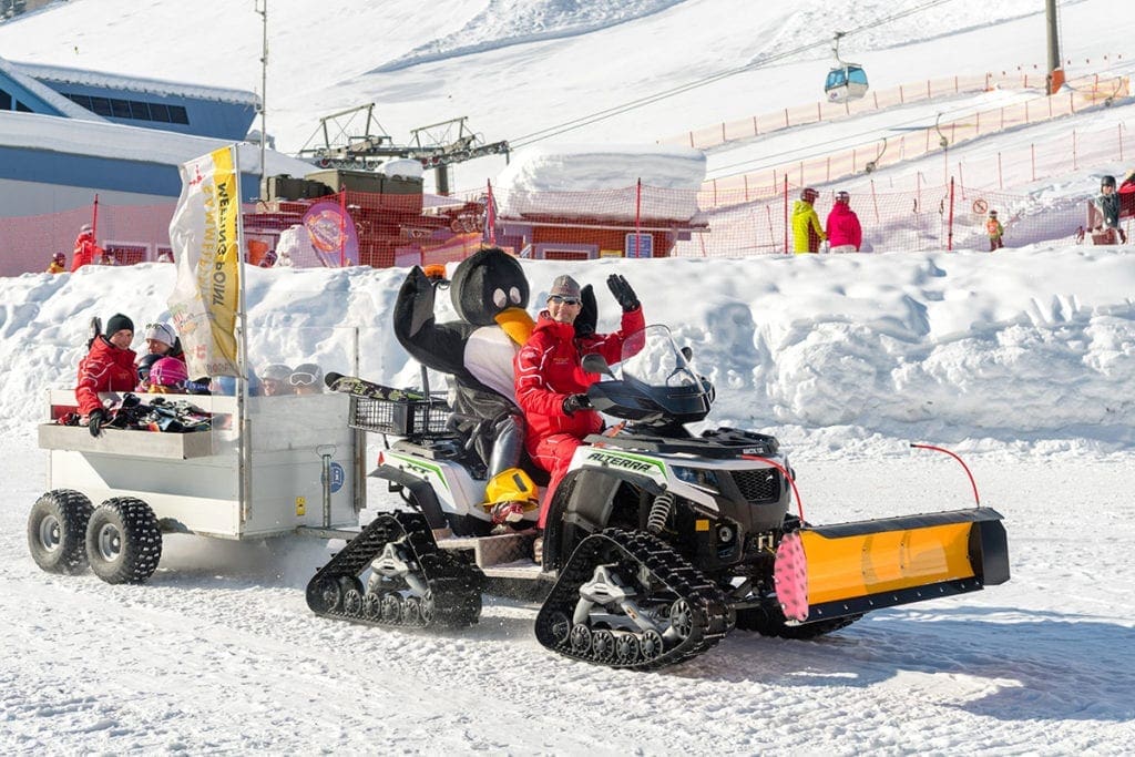
[[[446, 284], [461, 320], [438, 323], [435, 297]], [[535, 514], [539, 502], [536, 485], [520, 468], [524, 422], [513, 378], [513, 358], [535, 327], [526, 311], [529, 293], [516, 259], [488, 247], [461, 261], [448, 283], [414, 266], [394, 303], [398, 343], [421, 364], [452, 377], [457, 429], [471, 436], [487, 466], [484, 507], [495, 522], [515, 523]], [[578, 328], [594, 330], [595, 294], [581, 297], [587, 312], [580, 313]]]

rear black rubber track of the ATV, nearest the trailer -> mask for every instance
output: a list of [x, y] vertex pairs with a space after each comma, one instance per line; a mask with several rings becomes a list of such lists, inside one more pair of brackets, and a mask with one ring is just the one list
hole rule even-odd
[[[359, 574], [377, 557], [387, 544], [409, 537], [406, 544], [413, 550], [413, 561], [420, 566], [426, 584], [434, 597], [434, 616], [423, 622], [398, 617], [384, 620], [365, 612], [365, 602], [358, 612], [344, 608], [342, 597], [334, 607], [323, 600], [326, 581], [334, 581], [343, 594], [343, 586], [354, 586]], [[346, 581], [344, 581], [346, 579]], [[323, 565], [308, 582], [308, 606], [322, 617], [380, 625], [385, 628], [463, 628], [477, 623], [481, 614], [481, 590], [485, 574], [460, 557], [439, 549], [434, 540], [429, 523], [420, 513], [385, 513], [376, 518], [359, 536]], [[363, 599], [365, 599], [363, 595]]]

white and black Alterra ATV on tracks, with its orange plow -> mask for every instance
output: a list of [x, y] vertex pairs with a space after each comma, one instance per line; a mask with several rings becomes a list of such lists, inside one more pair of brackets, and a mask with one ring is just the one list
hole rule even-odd
[[309, 606], [376, 625], [460, 626], [477, 621], [487, 579], [528, 581], [543, 597], [541, 645], [653, 670], [734, 628], [812, 638], [872, 609], [1008, 580], [995, 511], [809, 525], [790, 512], [792, 470], [774, 437], [687, 430], [709, 413], [713, 388], [665, 327], [632, 335], [624, 358], [617, 378], [597, 355], [585, 360], [605, 375], [592, 405], [622, 422], [589, 437], [550, 493], [540, 564], [530, 531], [486, 536], [484, 464], [445, 430], [444, 405], [354, 396], [353, 426], [400, 436], [370, 476], [405, 510], [379, 515], [320, 569]]

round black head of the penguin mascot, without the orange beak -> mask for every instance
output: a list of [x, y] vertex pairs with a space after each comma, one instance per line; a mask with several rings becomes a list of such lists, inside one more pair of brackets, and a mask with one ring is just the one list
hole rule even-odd
[[516, 259], [499, 247], [478, 250], [461, 261], [449, 280], [449, 296], [461, 319], [493, 326], [510, 308], [528, 308], [528, 279]]

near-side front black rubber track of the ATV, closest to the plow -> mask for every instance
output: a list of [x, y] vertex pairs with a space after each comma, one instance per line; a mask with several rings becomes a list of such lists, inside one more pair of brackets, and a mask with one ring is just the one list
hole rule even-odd
[[[611, 656], [600, 658], [594, 654], [594, 648], [580, 654], [572, 647], [570, 637], [561, 641], [552, 630], [556, 612], [572, 617], [579, 600], [579, 588], [591, 579], [597, 564], [611, 562], [602, 556], [611, 547], [649, 570], [657, 583], [675, 595], [671, 602], [682, 598], [690, 606], [692, 626], [689, 636], [673, 647], [664, 648], [653, 659], [644, 659], [639, 655], [638, 659], [623, 663]], [[700, 655], [721, 641], [732, 626], [732, 611], [721, 590], [669, 545], [648, 533], [607, 529], [580, 542], [561, 571], [560, 580], [536, 616], [536, 638], [565, 657], [609, 667], [650, 671]]]

